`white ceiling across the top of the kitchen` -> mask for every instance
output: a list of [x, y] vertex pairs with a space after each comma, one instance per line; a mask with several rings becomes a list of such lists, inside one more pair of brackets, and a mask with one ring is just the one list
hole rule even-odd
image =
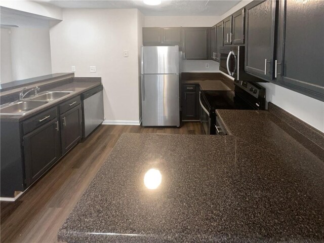
[[139, 9], [145, 16], [218, 16], [226, 13], [241, 0], [173, 0], [164, 1], [158, 6], [145, 5], [141, 0], [40, 0], [60, 8], [110, 8], [110, 9]]

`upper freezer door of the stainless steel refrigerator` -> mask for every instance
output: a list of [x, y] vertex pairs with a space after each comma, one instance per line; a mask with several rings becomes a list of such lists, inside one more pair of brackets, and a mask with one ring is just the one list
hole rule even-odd
[[141, 74], [178, 74], [179, 47], [142, 47]]

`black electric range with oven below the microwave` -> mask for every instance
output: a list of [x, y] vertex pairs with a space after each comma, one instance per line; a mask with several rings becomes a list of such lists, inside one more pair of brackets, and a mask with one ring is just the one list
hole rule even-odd
[[[234, 91], [200, 91], [200, 122], [205, 134], [226, 134], [217, 125], [216, 109], [264, 110], [265, 88], [245, 81], [235, 81]], [[219, 132], [219, 131], [222, 132]]]

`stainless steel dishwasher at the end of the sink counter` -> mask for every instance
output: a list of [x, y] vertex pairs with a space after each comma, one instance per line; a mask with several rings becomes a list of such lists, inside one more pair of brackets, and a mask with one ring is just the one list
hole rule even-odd
[[83, 107], [82, 135], [86, 138], [103, 121], [103, 87], [97, 86], [81, 94]]

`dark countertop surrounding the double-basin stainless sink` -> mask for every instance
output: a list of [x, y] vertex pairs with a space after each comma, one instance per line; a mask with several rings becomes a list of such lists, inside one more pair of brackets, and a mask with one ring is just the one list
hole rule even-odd
[[[72, 91], [72, 93], [65, 95], [59, 99], [54, 100], [54, 101], [51, 101], [47, 104], [44, 104], [42, 106], [39, 106], [33, 110], [26, 111], [26, 113], [22, 114], [22, 115], [0, 114], [0, 119], [3, 121], [22, 121], [24, 119], [27, 119], [28, 117], [31, 117], [39, 112], [42, 112], [43, 110], [54, 107], [54, 106], [58, 105], [59, 103], [64, 102], [65, 100], [73, 98], [73, 97], [75, 97], [81, 93], [84, 93], [87, 90], [95, 88], [99, 85], [101, 85], [101, 82], [72, 82], [72, 83], [58, 86], [56, 88], [52, 88], [47, 91]], [[43, 91], [42, 91], [42, 93], [43, 93]], [[26, 100], [28, 100], [28, 99], [26, 99]]]

